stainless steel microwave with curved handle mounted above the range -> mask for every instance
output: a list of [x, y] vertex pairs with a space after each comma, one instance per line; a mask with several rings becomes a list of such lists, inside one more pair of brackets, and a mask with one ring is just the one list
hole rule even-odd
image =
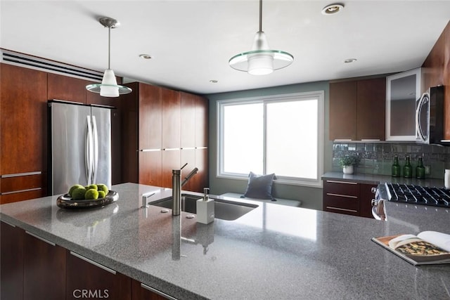
[[442, 144], [444, 138], [444, 86], [430, 87], [416, 102], [416, 139]]

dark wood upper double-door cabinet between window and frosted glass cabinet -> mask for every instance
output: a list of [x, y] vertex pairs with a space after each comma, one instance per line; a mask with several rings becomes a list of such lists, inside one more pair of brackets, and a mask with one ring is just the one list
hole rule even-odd
[[330, 140], [384, 141], [386, 79], [330, 83]]

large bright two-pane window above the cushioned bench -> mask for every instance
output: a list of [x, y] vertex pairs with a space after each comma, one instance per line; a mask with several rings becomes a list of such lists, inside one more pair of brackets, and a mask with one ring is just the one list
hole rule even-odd
[[219, 100], [217, 176], [320, 186], [323, 91]]

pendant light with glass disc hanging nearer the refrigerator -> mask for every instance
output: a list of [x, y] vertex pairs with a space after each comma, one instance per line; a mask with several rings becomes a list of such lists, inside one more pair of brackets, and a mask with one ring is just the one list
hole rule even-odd
[[114, 71], [111, 69], [111, 28], [118, 27], [120, 23], [112, 18], [100, 18], [98, 21], [108, 28], [108, 69], [103, 73], [101, 84], [89, 84], [86, 89], [93, 93], [100, 93], [103, 97], [119, 97], [119, 95], [131, 93], [132, 90], [129, 87], [117, 85]]

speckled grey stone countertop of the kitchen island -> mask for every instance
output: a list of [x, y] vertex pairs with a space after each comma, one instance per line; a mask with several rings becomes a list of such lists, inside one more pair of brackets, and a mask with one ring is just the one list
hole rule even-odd
[[[383, 222], [242, 200], [258, 207], [204, 225], [151, 205], [170, 189], [112, 189], [120, 199], [103, 208], [60, 209], [57, 196], [43, 197], [1, 205], [1, 220], [176, 299], [450, 298], [450, 265], [414, 267], [371, 241], [450, 234], [448, 209], [387, 203]], [[146, 193], [155, 195], [143, 209]]]

